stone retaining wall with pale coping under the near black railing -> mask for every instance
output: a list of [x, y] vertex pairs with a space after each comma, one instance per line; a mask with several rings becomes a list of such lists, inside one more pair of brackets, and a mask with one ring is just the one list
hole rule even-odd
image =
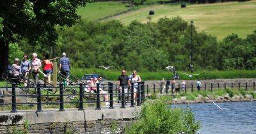
[[[135, 108], [0, 112], [0, 133], [123, 133]], [[19, 131], [18, 131], [19, 130]]]

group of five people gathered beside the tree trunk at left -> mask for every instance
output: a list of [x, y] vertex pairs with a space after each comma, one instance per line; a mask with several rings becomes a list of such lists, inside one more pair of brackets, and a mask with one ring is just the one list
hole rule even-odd
[[[42, 67], [43, 71], [40, 70]], [[24, 82], [24, 86], [30, 84], [29, 81], [29, 72], [33, 77], [34, 85], [38, 83], [39, 74], [43, 73], [44, 75], [44, 86], [49, 86], [51, 84], [51, 73], [53, 71], [53, 63], [49, 60], [49, 54], [44, 55], [44, 59], [40, 61], [36, 53], [32, 54], [32, 59], [29, 61], [28, 54], [23, 55], [23, 59], [20, 61], [19, 58], [15, 58], [11, 66], [12, 74], [17, 77], [19, 80]], [[63, 52], [62, 57], [60, 58], [60, 73], [69, 77], [70, 71], [70, 61], [66, 57], [65, 52]]]

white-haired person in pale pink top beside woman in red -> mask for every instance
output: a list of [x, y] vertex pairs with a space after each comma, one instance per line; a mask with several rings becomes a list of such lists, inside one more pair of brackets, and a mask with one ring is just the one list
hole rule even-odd
[[33, 79], [35, 80], [35, 84], [38, 83], [39, 77], [39, 69], [42, 66], [40, 59], [37, 58], [37, 54], [32, 54], [33, 59], [31, 60], [31, 73], [33, 74]]

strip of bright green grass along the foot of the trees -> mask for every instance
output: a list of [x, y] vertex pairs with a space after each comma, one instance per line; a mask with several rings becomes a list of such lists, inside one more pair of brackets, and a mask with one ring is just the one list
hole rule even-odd
[[[179, 72], [180, 79], [182, 80], [191, 79], [180, 72]], [[119, 70], [118, 71], [117, 70], [100, 70], [97, 68], [90, 68], [90, 69], [73, 68], [71, 70], [71, 74], [75, 75], [78, 78], [82, 78], [84, 74], [88, 74], [88, 73], [100, 74], [102, 75], [102, 77], [108, 80], [117, 80], [118, 76], [120, 75]], [[131, 73], [132, 71], [127, 71], [127, 75], [130, 75]], [[202, 80], [217, 79], [217, 78], [256, 78], [256, 70], [196, 71], [195, 73], [200, 73], [198, 78]], [[162, 78], [170, 79], [172, 76], [172, 73], [170, 71], [159, 71], [159, 72], [138, 71], [138, 74], [141, 76], [143, 80], [161, 80]], [[192, 79], [196, 80], [196, 77], [193, 77]]]

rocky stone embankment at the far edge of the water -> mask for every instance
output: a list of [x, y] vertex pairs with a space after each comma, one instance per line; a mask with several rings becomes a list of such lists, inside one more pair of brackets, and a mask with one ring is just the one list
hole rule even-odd
[[182, 96], [180, 98], [173, 98], [171, 103], [180, 104], [180, 103], [212, 103], [212, 102], [236, 102], [236, 101], [256, 101], [253, 98], [252, 94], [235, 94], [234, 96], [230, 97], [228, 94], [223, 96], [213, 97], [212, 95], [202, 96], [198, 94], [195, 100], [187, 100], [186, 96]]

